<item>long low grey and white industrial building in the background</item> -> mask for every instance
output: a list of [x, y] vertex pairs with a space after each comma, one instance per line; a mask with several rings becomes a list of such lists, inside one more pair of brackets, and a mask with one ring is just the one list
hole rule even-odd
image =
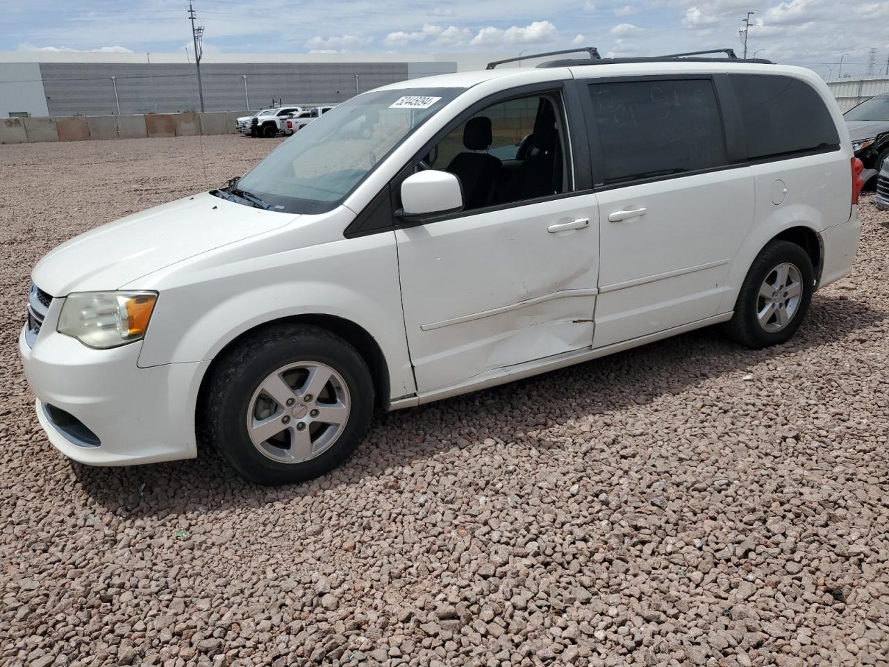
[[[453, 57], [453, 56], [452, 56]], [[0, 53], [0, 118], [200, 110], [186, 53]], [[205, 54], [206, 111], [322, 104], [408, 78], [457, 71], [454, 60], [356, 54]]]

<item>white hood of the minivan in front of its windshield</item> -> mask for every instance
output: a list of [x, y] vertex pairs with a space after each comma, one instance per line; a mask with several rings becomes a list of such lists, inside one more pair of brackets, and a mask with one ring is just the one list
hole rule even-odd
[[202, 192], [72, 238], [44, 255], [32, 278], [52, 296], [115, 290], [177, 261], [283, 227], [297, 217]]

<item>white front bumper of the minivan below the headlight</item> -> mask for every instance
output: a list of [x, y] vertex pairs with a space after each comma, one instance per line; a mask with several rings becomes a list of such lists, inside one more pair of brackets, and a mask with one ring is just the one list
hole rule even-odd
[[[33, 348], [24, 329], [19, 336], [37, 419], [52, 445], [90, 465], [194, 458], [196, 398], [210, 362], [139, 368], [140, 342], [112, 350], [87, 348], [55, 331], [60, 301], [53, 301]], [[73, 415], [100, 444], [84, 443], [68, 424], [53, 421], [46, 404]]]

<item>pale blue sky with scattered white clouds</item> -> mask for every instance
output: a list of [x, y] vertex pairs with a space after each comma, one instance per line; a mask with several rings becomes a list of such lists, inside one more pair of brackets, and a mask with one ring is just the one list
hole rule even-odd
[[[0, 0], [0, 51], [180, 52], [187, 0]], [[574, 45], [638, 56], [732, 47], [826, 78], [889, 59], [889, 0], [195, 0], [204, 51], [515, 54]], [[509, 13], [505, 15], [504, 10]]]

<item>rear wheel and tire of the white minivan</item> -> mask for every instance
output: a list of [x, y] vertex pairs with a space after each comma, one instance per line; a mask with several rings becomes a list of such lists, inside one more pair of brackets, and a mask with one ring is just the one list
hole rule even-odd
[[[788, 276], [783, 285], [779, 270]], [[753, 350], [788, 341], [803, 324], [814, 284], [812, 260], [803, 248], [789, 241], [770, 241], [744, 278], [734, 315], [724, 325], [725, 334]], [[784, 288], [776, 289], [780, 286]]]

